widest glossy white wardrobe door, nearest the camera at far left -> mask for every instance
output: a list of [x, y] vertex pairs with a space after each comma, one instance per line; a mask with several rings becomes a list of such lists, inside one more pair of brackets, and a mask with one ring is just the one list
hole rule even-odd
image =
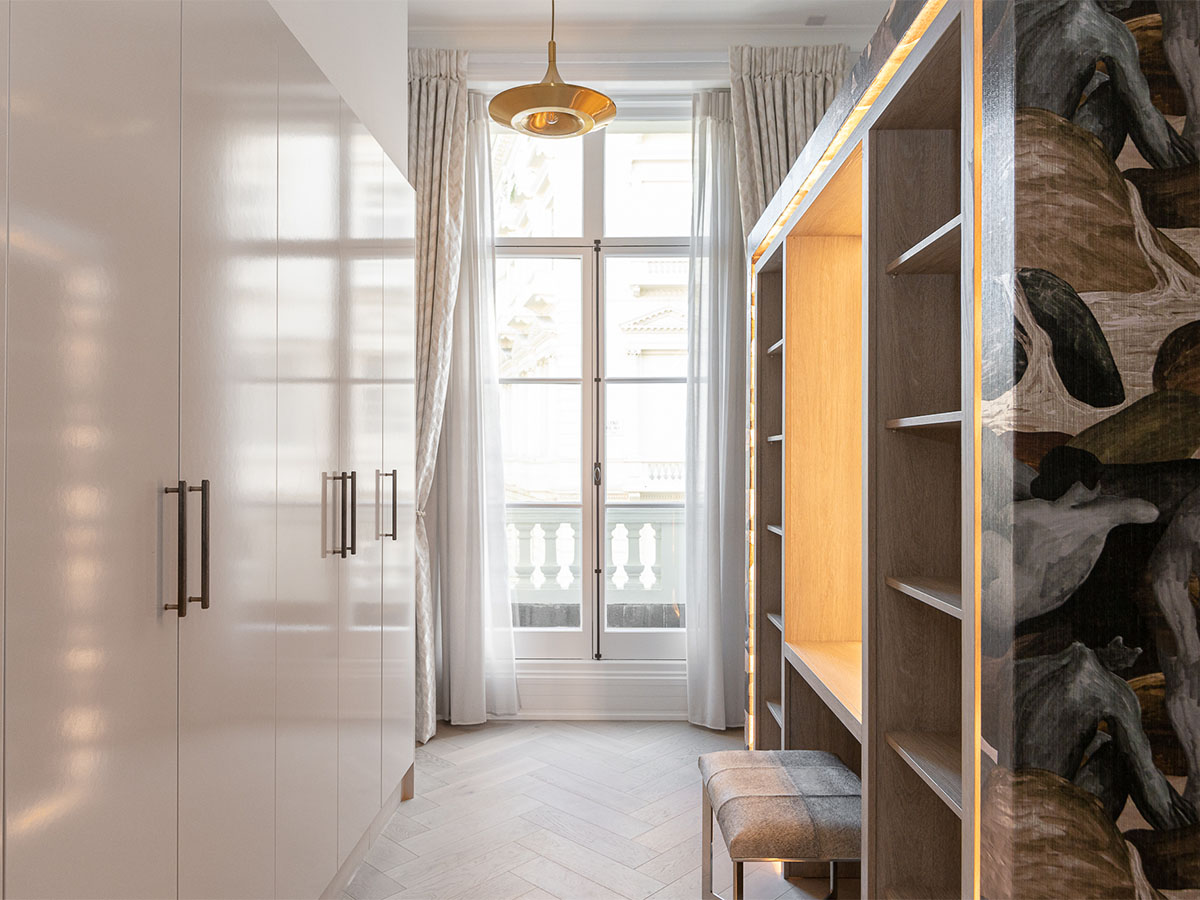
[[179, 14], [11, 7], [8, 896], [175, 893]]

